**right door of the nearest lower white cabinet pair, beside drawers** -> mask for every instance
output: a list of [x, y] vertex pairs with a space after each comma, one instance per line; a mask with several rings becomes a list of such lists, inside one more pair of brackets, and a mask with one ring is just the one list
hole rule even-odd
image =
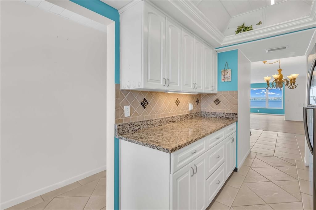
[[193, 209], [206, 209], [206, 153], [193, 161]]

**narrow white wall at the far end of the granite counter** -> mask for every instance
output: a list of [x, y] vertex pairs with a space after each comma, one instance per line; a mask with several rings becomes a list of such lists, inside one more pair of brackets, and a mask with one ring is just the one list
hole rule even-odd
[[240, 168], [250, 152], [250, 61], [238, 50], [238, 159]]

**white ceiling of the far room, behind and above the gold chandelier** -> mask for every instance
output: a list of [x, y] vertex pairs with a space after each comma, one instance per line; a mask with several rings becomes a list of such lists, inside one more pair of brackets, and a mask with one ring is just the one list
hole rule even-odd
[[[306, 57], [305, 56], [297, 56], [290, 58], [275, 58], [273, 60], [268, 60], [269, 63], [281, 60], [281, 68], [283, 77], [301, 72], [301, 68], [305, 69], [304, 64]], [[264, 83], [264, 77], [272, 76], [273, 74], [277, 74], [276, 69], [279, 68], [279, 63], [264, 65], [262, 61], [252, 62], [251, 63], [251, 83]], [[296, 72], [295, 72], [296, 71]], [[273, 78], [272, 78], [273, 79]], [[272, 81], [272, 80], [271, 80]]]

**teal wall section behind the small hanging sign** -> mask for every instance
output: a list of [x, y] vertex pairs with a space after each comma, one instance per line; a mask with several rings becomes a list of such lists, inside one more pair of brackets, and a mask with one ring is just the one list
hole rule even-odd
[[[225, 63], [232, 69], [232, 81], [222, 82], [222, 69]], [[226, 67], [227, 68], [227, 67]], [[237, 91], [238, 89], [238, 50], [220, 52], [217, 54], [217, 90], [218, 91]]]

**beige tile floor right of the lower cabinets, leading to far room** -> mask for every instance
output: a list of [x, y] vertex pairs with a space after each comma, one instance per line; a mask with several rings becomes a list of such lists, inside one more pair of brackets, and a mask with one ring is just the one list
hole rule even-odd
[[311, 208], [304, 135], [251, 129], [251, 152], [207, 210]]

